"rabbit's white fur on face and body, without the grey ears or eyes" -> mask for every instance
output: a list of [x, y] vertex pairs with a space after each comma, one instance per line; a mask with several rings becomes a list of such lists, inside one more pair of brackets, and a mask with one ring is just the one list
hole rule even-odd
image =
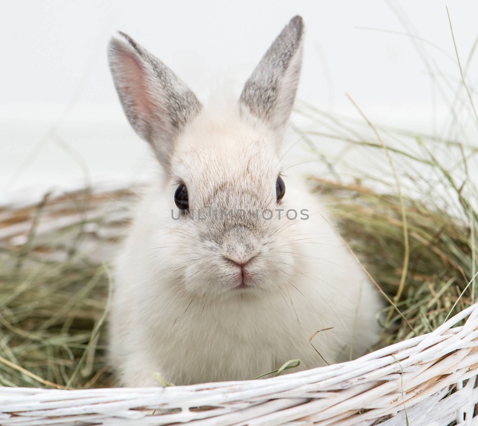
[[[295, 93], [296, 81], [289, 86]], [[292, 359], [300, 369], [325, 365], [308, 339], [330, 327], [313, 340], [329, 363], [375, 343], [379, 296], [324, 219], [324, 202], [283, 175], [276, 203], [278, 142], [277, 128], [243, 104], [201, 108], [159, 157], [167, 175], [145, 191], [115, 271], [109, 354], [121, 384], [157, 385], [153, 372], [176, 385], [251, 379]], [[282, 208], [281, 220], [173, 220], [180, 181], [196, 211]], [[284, 218], [288, 209], [298, 218]], [[251, 259], [247, 288], [235, 288], [240, 268], [227, 258]]]

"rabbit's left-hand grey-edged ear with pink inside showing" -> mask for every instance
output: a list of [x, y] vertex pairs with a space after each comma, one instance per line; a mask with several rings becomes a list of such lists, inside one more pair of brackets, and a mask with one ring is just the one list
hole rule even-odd
[[167, 164], [174, 139], [201, 104], [173, 71], [125, 33], [112, 37], [108, 58], [131, 126]]

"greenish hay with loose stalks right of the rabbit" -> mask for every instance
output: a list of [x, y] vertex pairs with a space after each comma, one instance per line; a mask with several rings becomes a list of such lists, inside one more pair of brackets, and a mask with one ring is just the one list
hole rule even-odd
[[[330, 118], [310, 105], [304, 110]], [[341, 234], [402, 312], [403, 317], [391, 306], [385, 309], [380, 346], [429, 333], [476, 301], [478, 175], [471, 165], [476, 167], [478, 148], [419, 133], [379, 131], [362, 117], [372, 128], [371, 138], [363, 135], [367, 129], [356, 131], [357, 124], [347, 120], [335, 121], [328, 133], [311, 133], [338, 143], [338, 155], [321, 153], [318, 143], [308, 142], [328, 174], [336, 176], [315, 175], [312, 181], [329, 200]], [[351, 147], [373, 157], [370, 164], [378, 172], [369, 173], [370, 164], [362, 169], [347, 164]]]

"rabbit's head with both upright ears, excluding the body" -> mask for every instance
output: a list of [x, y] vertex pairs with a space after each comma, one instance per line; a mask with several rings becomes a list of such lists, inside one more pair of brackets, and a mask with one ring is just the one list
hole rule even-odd
[[[161, 256], [188, 292], [257, 295], [292, 279], [300, 267], [287, 242], [298, 233], [303, 206], [294, 203], [298, 194], [284, 196], [279, 152], [299, 79], [302, 34], [296, 16], [247, 80], [233, 113], [206, 112], [128, 35], [110, 42], [109, 64], [126, 116], [168, 175], [157, 206], [165, 212], [157, 212], [158, 229], [168, 232], [158, 230], [158, 245], [168, 247]], [[288, 218], [287, 210], [293, 210]]]

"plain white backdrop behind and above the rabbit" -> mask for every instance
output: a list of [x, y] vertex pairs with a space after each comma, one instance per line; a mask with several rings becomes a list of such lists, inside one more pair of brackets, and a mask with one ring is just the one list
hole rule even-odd
[[[218, 81], [233, 81], [239, 93], [275, 36], [300, 14], [300, 99], [357, 117], [348, 92], [374, 122], [437, 133], [448, 102], [436, 82], [451, 88], [460, 79], [446, 4], [465, 63], [478, 33], [478, 2], [471, 0], [5, 2], [0, 200], [22, 188], [65, 187], [85, 173], [120, 181], [146, 170], [138, 159], [149, 155], [146, 144], [124, 118], [109, 76], [106, 45], [116, 30], [207, 102]], [[478, 58], [469, 65], [470, 86], [477, 71]]]

